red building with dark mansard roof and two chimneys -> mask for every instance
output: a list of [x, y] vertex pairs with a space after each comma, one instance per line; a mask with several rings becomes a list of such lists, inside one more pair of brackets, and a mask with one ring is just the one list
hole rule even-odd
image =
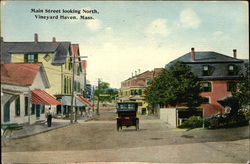
[[231, 96], [236, 83], [245, 73], [244, 60], [237, 59], [237, 51], [233, 50], [232, 57], [213, 51], [195, 51], [177, 58], [168, 63], [168, 69], [177, 61], [183, 62], [199, 78], [204, 97], [201, 107], [204, 116], [211, 116], [224, 112], [224, 108], [217, 102], [226, 96]]

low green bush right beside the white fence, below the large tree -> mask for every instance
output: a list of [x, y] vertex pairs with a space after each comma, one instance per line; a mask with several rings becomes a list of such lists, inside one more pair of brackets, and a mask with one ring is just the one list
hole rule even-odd
[[184, 121], [179, 128], [199, 128], [203, 125], [203, 119], [200, 116], [192, 116]]

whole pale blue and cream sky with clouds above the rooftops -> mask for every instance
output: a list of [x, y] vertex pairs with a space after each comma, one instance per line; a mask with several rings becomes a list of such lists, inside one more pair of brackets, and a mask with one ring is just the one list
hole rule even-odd
[[192, 47], [228, 56], [237, 49], [238, 58], [249, 59], [248, 10], [243, 1], [1, 1], [1, 36], [6, 42], [25, 42], [37, 33], [39, 41], [56, 37], [79, 44], [80, 55], [88, 56], [90, 83], [100, 78], [120, 88], [135, 71], [165, 67]]

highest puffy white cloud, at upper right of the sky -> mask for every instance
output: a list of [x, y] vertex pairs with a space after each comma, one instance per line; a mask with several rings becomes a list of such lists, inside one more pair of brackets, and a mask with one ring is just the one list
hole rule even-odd
[[201, 20], [191, 8], [188, 8], [180, 13], [180, 23], [183, 28], [197, 29], [200, 27]]

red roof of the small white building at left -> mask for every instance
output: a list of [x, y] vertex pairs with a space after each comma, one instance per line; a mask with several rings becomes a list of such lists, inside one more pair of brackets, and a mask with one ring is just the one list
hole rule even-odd
[[1, 83], [31, 86], [41, 69], [41, 63], [1, 64]]

